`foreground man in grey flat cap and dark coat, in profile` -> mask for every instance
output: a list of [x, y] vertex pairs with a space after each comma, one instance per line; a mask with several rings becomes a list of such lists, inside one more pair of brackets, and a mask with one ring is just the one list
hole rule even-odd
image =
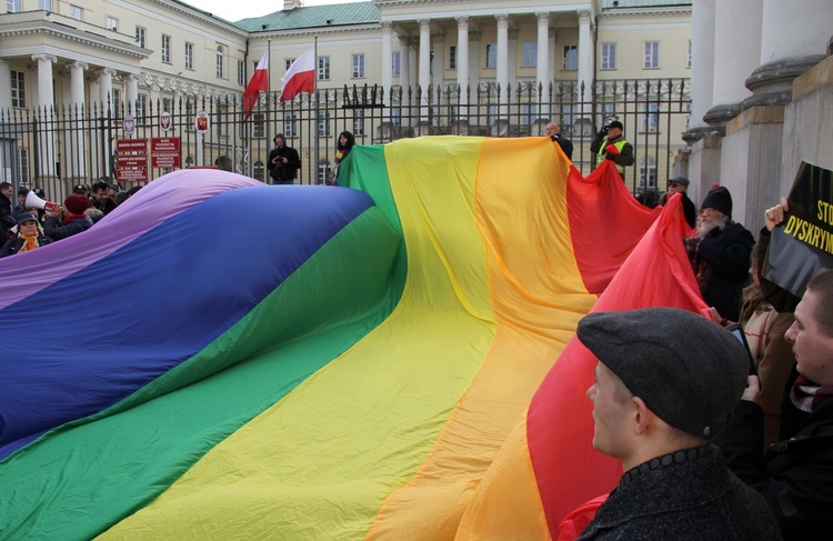
[[624, 469], [579, 539], [781, 539], [763, 498], [710, 444], [746, 384], [741, 342], [674, 308], [592, 313], [576, 334], [599, 358], [593, 447]]

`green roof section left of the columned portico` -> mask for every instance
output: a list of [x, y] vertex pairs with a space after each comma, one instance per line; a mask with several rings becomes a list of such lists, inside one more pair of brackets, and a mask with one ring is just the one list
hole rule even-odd
[[372, 24], [382, 20], [382, 13], [372, 1], [335, 3], [331, 6], [304, 6], [291, 10], [275, 11], [263, 17], [234, 21], [234, 26], [249, 32], [298, 30], [303, 28]]

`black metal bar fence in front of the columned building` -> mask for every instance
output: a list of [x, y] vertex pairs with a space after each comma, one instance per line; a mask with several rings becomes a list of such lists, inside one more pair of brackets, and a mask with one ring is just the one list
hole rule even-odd
[[[394, 87], [387, 93], [379, 86], [344, 87], [283, 103], [278, 92], [271, 92], [261, 94], [247, 121], [235, 99], [184, 96], [7, 109], [0, 110], [0, 173], [16, 187], [43, 188], [54, 200], [74, 184], [101, 178], [120, 179], [127, 188], [175, 167], [154, 167], [148, 159], [147, 180], [128, 174], [137, 171], [127, 170], [132, 168], [124, 163], [136, 162], [119, 158], [120, 141], [178, 138], [179, 168], [210, 167], [225, 156], [237, 172], [269, 181], [265, 162], [272, 139], [283, 133], [301, 156], [298, 182], [323, 183], [330, 178], [337, 138], [344, 130], [355, 136], [358, 144], [371, 144], [435, 134], [543, 136], [546, 123], [554, 121], [573, 140], [573, 162], [586, 174], [595, 167], [589, 149], [593, 134], [618, 118], [636, 156], [625, 182], [634, 194], [643, 194], [655, 192], [658, 179], [668, 178], [673, 154], [684, 147], [681, 134], [690, 103], [689, 79], [668, 79], [596, 81], [591, 88], [575, 82], [555, 81], [548, 88], [521, 82], [505, 91], [491, 82], [464, 91], [455, 84], [424, 91]], [[141, 180], [130, 180], [136, 178]]]

